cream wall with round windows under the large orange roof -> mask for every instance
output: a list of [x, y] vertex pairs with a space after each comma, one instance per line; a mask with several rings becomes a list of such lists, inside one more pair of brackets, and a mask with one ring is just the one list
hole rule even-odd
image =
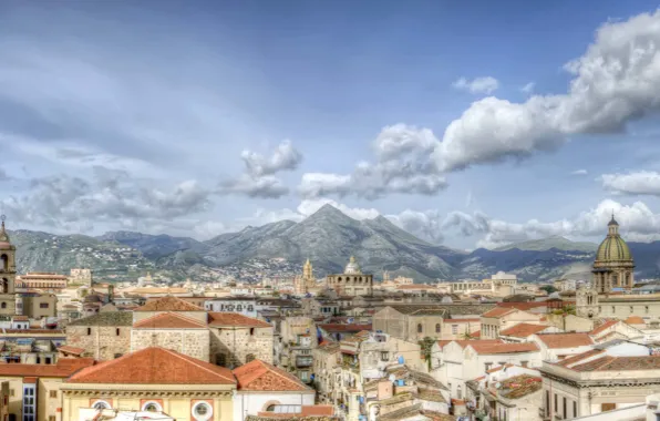
[[[140, 393], [140, 392], [137, 392]], [[146, 396], [146, 394], [145, 394]], [[90, 397], [64, 397], [64, 407], [63, 407], [63, 414], [62, 421], [80, 421], [79, 420], [79, 412], [80, 409], [90, 408], [90, 400], [95, 398]], [[193, 401], [198, 400], [207, 400], [207, 399], [197, 399], [197, 398], [141, 398], [140, 396], [136, 398], [103, 398], [103, 394], [100, 392], [97, 399], [105, 400], [110, 402], [112, 400], [112, 407], [121, 410], [126, 411], [140, 411], [141, 401], [148, 401], [148, 400], [158, 400], [163, 401], [163, 411], [171, 415], [176, 420], [193, 420], [192, 417], [192, 407]], [[213, 400], [213, 411], [214, 417], [213, 420], [215, 421], [231, 421], [234, 419], [233, 415], [233, 401], [231, 397], [223, 397], [223, 398], [210, 398], [208, 400]]]

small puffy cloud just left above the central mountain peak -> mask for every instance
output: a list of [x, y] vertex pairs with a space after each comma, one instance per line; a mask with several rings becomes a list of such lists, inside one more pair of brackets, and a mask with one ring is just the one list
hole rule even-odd
[[270, 156], [252, 151], [243, 151], [245, 173], [235, 178], [220, 181], [218, 193], [236, 194], [252, 198], [279, 198], [289, 193], [289, 188], [275, 174], [293, 171], [302, 162], [302, 155], [290, 141], [281, 142]]

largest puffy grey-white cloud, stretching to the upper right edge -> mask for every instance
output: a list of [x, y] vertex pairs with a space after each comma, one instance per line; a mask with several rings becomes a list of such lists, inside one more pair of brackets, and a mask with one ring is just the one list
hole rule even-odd
[[564, 66], [573, 75], [567, 93], [474, 102], [446, 127], [435, 151], [439, 167], [524, 157], [554, 150], [569, 135], [625, 130], [660, 106], [658, 45], [660, 10], [605, 23], [585, 54]]

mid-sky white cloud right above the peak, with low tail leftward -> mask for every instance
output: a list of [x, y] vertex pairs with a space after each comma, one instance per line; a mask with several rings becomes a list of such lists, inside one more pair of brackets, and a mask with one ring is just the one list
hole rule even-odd
[[298, 192], [303, 198], [354, 195], [377, 199], [384, 195], [433, 195], [446, 186], [431, 158], [439, 140], [427, 129], [405, 124], [384, 127], [373, 141], [375, 162], [358, 163], [352, 174], [306, 173]]

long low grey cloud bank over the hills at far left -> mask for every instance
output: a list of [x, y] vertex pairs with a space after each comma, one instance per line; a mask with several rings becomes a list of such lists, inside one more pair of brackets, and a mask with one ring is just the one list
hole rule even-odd
[[169, 220], [208, 210], [210, 192], [195, 181], [163, 189], [125, 172], [95, 167], [93, 176], [52, 175], [30, 181], [28, 192], [0, 204], [18, 224], [86, 232], [91, 222], [116, 227], [166, 226]]

